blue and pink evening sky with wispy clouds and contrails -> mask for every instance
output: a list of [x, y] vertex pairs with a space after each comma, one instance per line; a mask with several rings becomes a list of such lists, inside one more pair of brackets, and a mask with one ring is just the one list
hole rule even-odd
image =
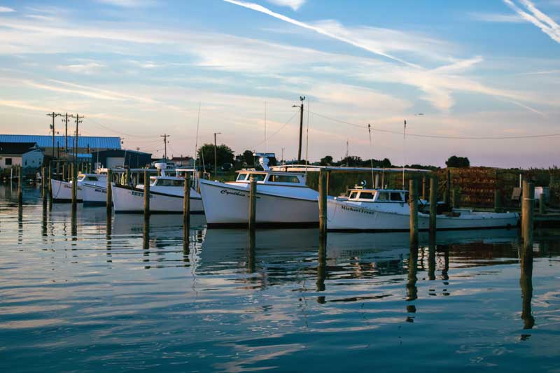
[[311, 161], [552, 167], [559, 23], [560, 0], [0, 0], [0, 132], [79, 113], [155, 156], [216, 132], [293, 159], [304, 96]]

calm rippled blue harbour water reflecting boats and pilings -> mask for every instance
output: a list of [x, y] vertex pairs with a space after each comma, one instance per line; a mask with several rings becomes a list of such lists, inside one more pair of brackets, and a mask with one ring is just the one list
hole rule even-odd
[[[560, 371], [560, 232], [206, 230], [0, 187], [0, 370]], [[522, 261], [520, 260], [523, 259]]]

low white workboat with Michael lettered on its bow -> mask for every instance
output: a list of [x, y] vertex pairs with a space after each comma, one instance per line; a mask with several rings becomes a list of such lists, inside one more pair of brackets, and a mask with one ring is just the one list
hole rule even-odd
[[[446, 211], [447, 210], [447, 211]], [[470, 209], [444, 209], [438, 205], [437, 230], [477, 230], [509, 228], [517, 225], [518, 213], [475, 212]], [[405, 190], [349, 190], [348, 197], [327, 199], [327, 228], [332, 231], [409, 230], [410, 207]], [[428, 230], [429, 206], [419, 202], [418, 227]]]

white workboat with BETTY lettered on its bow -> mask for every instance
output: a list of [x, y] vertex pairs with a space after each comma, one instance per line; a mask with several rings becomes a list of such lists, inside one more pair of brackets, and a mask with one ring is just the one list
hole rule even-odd
[[[150, 212], [182, 213], [185, 178], [167, 176], [165, 163], [157, 163], [155, 167], [161, 176], [150, 177]], [[194, 170], [190, 172], [194, 176]], [[194, 177], [191, 180], [195, 183]], [[112, 193], [116, 213], [144, 213], [144, 184], [135, 187], [113, 184]], [[190, 187], [190, 213], [204, 213], [200, 194], [193, 186]]]

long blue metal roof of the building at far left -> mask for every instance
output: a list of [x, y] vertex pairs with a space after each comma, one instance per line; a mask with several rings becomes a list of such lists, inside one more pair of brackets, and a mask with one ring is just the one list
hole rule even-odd
[[[39, 148], [52, 147], [52, 136], [49, 135], [32, 135], [32, 134], [0, 134], [0, 142], [6, 143], [37, 143]], [[64, 148], [64, 136], [55, 136], [55, 146]], [[68, 147], [74, 145], [73, 136], [68, 136]], [[120, 149], [120, 137], [103, 137], [103, 136], [79, 136], [78, 148], [87, 148], [90, 150], [97, 149]]]

